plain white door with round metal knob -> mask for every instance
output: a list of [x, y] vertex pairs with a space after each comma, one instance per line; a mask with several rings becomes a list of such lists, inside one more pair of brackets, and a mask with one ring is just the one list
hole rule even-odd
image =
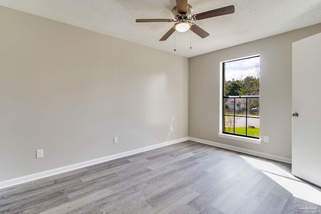
[[321, 186], [321, 33], [292, 44], [292, 113], [292, 174]]

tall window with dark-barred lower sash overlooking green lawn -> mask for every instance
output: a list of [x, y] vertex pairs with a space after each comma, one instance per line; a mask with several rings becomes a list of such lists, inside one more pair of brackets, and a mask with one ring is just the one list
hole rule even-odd
[[223, 63], [222, 133], [260, 136], [260, 56]]

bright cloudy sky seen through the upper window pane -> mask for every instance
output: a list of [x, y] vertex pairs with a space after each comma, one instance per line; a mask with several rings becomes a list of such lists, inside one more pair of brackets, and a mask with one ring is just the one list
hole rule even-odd
[[260, 57], [253, 57], [225, 63], [225, 81], [256, 77], [255, 65], [260, 67]]

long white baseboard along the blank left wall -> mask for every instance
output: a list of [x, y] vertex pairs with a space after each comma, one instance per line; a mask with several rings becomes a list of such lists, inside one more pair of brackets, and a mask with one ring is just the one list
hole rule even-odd
[[80, 169], [80, 168], [83, 168], [83, 167], [95, 165], [95, 164], [106, 162], [106, 161], [109, 161], [109, 160], [114, 160], [114, 159], [117, 159], [117, 158], [121, 158], [121, 157], [129, 156], [129, 155], [137, 154], [137, 153], [148, 151], [148, 150], [151, 150], [151, 149], [155, 149], [155, 148], [159, 148], [159, 147], [163, 147], [163, 146], [167, 146], [167, 145], [172, 145], [172, 144], [175, 144], [175, 143], [180, 143], [180, 142], [183, 142], [183, 141], [186, 141], [186, 140], [189, 140], [189, 137], [184, 137], [184, 138], [180, 138], [180, 139], [176, 139], [176, 140], [171, 140], [171, 141], [167, 141], [167, 142], [164, 142], [164, 143], [159, 143], [159, 144], [155, 144], [155, 145], [151, 145], [151, 146], [146, 146], [146, 147], [142, 147], [142, 148], [126, 151], [126, 152], [121, 152], [121, 153], [118, 153], [118, 154], [113, 154], [113, 155], [109, 155], [109, 156], [105, 156], [105, 157], [101, 157], [101, 158], [97, 158], [97, 159], [93, 159], [93, 160], [88, 160], [88, 161], [84, 161], [84, 162], [80, 162], [80, 163], [76, 163], [76, 164], [72, 164], [72, 165], [68, 165], [68, 166], [63, 166], [63, 167], [50, 169], [50, 170], [46, 170], [46, 171], [42, 171], [42, 172], [30, 174], [30, 175], [25, 175], [25, 176], [22, 176], [22, 177], [17, 177], [17, 178], [13, 178], [13, 179], [9, 179], [9, 180], [0, 181], [0, 189], [6, 188], [6, 187], [10, 187], [10, 186], [14, 186], [14, 185], [18, 185], [18, 184], [21, 184], [21, 183], [30, 182], [30, 181], [33, 181], [33, 180], [38, 180], [38, 179], [49, 177], [49, 176], [52, 176], [52, 175], [57, 175], [57, 174], [68, 172], [68, 171], [72, 171], [72, 170], [75, 170], [75, 169]]

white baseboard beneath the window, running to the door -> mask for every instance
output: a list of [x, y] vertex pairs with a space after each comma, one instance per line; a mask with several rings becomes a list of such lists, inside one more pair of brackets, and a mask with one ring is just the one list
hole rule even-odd
[[202, 139], [198, 139], [198, 138], [194, 138], [194, 137], [190, 137], [189, 139], [192, 141], [195, 141], [195, 142], [204, 143], [204, 144], [208, 144], [208, 145], [212, 145], [212, 146], [216, 146], [216, 147], [220, 147], [220, 148], [224, 148], [224, 149], [229, 149], [232, 151], [242, 152], [245, 154], [251, 154], [254, 156], [258, 156], [258, 157], [264, 157], [264, 158], [271, 159], [271, 160], [277, 160], [277, 161], [281, 161], [281, 162], [285, 162], [285, 163], [292, 162], [291, 158], [288, 158], [288, 157], [282, 157], [282, 156], [278, 156], [278, 155], [274, 155], [274, 154], [268, 154], [268, 153], [264, 153], [264, 152], [254, 151], [251, 149], [245, 149], [245, 148], [241, 148], [241, 147], [237, 147], [237, 146], [231, 146], [231, 145], [217, 143], [217, 142], [213, 142], [213, 141], [202, 140]]

